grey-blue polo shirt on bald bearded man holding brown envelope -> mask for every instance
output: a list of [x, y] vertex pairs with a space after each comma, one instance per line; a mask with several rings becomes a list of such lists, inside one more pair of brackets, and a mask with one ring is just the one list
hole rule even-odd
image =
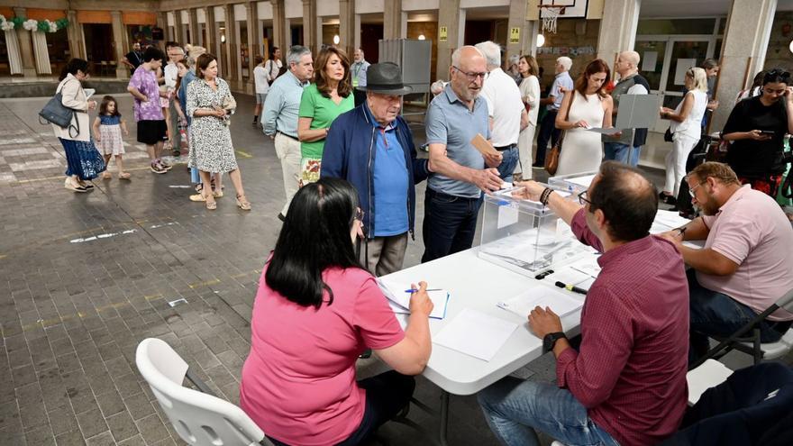
[[[481, 133], [486, 140], [490, 139], [488, 105], [485, 99], [477, 97], [471, 111], [468, 105], [460, 101], [451, 90], [451, 84], [447, 85], [430, 103], [424, 125], [427, 143], [444, 144], [449, 159], [467, 168], [485, 168], [482, 154], [470, 144], [477, 133]], [[481, 191], [476, 185], [438, 173], [429, 177], [427, 181], [427, 187], [435, 192], [466, 198], [481, 196]]]

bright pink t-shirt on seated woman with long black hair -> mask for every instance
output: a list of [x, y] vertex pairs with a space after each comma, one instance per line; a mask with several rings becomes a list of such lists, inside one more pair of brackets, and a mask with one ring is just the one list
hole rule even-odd
[[343, 441], [360, 425], [366, 403], [355, 360], [367, 348], [395, 345], [405, 333], [363, 269], [327, 269], [323, 279], [333, 304], [319, 310], [270, 289], [266, 271], [253, 304], [251, 354], [242, 366], [242, 410], [287, 444]]

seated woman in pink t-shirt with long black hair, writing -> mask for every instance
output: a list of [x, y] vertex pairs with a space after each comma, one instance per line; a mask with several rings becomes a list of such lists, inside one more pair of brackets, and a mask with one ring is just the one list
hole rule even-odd
[[[429, 360], [426, 283], [403, 332], [355, 256], [361, 218], [347, 181], [307, 184], [262, 271], [240, 405], [278, 445], [359, 444], [408, 404], [415, 381], [406, 375]], [[356, 381], [355, 361], [368, 348], [394, 370]]]

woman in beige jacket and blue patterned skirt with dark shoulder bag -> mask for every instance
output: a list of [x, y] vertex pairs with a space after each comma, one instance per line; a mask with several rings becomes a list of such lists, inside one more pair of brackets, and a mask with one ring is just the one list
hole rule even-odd
[[83, 90], [82, 81], [87, 77], [87, 60], [71, 59], [60, 72], [60, 84], [55, 91], [56, 94], [60, 93], [63, 106], [75, 112], [68, 127], [52, 124], [52, 130], [66, 152], [68, 168], [63, 186], [75, 192], [93, 189], [94, 186], [87, 181], [98, 177], [106, 168], [105, 160], [99, 150], [96, 150], [94, 141], [91, 141], [88, 110], [96, 109], [96, 101], [88, 101], [86, 91]]

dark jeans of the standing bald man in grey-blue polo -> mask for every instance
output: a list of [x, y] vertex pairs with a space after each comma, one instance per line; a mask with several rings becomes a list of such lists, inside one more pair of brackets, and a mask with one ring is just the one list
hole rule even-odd
[[424, 198], [424, 255], [422, 263], [468, 250], [477, 231], [482, 198], [465, 198], [435, 192], [427, 187]]

